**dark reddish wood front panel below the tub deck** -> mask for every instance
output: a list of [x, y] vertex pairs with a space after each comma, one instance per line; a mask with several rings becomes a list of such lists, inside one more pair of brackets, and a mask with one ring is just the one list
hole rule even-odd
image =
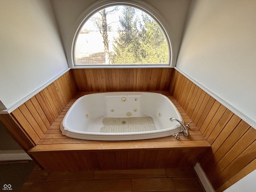
[[192, 167], [200, 155], [206, 151], [206, 149], [199, 149], [200, 153], [195, 153], [196, 150], [69, 150], [35, 152], [32, 156], [47, 171], [78, 172], [82, 170]]

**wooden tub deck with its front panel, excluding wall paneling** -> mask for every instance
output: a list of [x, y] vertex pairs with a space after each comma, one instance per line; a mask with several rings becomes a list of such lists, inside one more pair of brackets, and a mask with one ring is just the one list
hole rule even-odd
[[[164, 94], [174, 103], [180, 111], [185, 124], [191, 121], [170, 92], [154, 92]], [[206, 150], [210, 148], [210, 144], [193, 122], [190, 124], [190, 137], [185, 138], [184, 136], [180, 136], [179, 140], [176, 140], [173, 136], [168, 136], [146, 140], [94, 141], [63, 136], [60, 131], [60, 123], [66, 112], [80, 96], [90, 93], [96, 92], [76, 93], [38, 144], [28, 150], [28, 154], [46, 170], [76, 171], [81, 169], [172, 168], [173, 165], [168, 165], [168, 162], [175, 161], [176, 164], [181, 166], [182, 162], [178, 160], [180, 158], [183, 158], [183, 163], [188, 163], [186, 166], [193, 166], [196, 161], [200, 160], [199, 158], [202, 158]], [[175, 158], [173, 159], [173, 156], [176, 154], [179, 154], [179, 158], [174, 160]], [[129, 156], [132, 158], [131, 166], [128, 166]], [[186, 160], [184, 159], [185, 157], [187, 158]], [[81, 158], [86, 162], [85, 165], [82, 163]], [[148, 158], [148, 164], [145, 165], [146, 158]], [[60, 164], [59, 159], [61, 159], [63, 164]], [[120, 159], [120, 163], [118, 159]], [[153, 159], [154, 163], [152, 163]], [[159, 164], [156, 164], [157, 159], [159, 160]], [[56, 161], [55, 165], [54, 163], [52, 165], [48, 163], [54, 160]], [[139, 166], [140, 161], [141, 165]], [[111, 162], [115, 162], [114, 165], [111, 166]], [[68, 164], [72, 168], [68, 168]]]

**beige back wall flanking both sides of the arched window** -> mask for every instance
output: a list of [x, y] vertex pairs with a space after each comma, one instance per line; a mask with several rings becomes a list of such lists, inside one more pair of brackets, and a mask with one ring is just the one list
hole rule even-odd
[[[51, 0], [67, 55], [71, 52], [70, 46], [79, 24], [78, 19], [80, 18], [80, 14], [96, 1], [97, 0]], [[165, 20], [167, 30], [171, 35], [174, 52], [173, 62], [175, 63], [190, 0], [144, 0], [144, 2], [153, 6]]]

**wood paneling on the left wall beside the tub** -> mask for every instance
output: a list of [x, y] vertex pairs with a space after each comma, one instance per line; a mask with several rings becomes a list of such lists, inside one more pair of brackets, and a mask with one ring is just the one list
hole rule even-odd
[[40, 141], [75, 93], [68, 71], [11, 114], [1, 115], [0, 120], [16, 142], [28, 150]]

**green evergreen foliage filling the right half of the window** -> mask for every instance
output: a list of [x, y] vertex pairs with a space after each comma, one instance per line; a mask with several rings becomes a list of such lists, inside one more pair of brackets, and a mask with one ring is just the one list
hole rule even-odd
[[[168, 44], [158, 23], [142, 12], [125, 6], [120, 16], [119, 37], [114, 41], [116, 64], [166, 64], [169, 59]], [[140, 26], [140, 29], [137, 27]]]

